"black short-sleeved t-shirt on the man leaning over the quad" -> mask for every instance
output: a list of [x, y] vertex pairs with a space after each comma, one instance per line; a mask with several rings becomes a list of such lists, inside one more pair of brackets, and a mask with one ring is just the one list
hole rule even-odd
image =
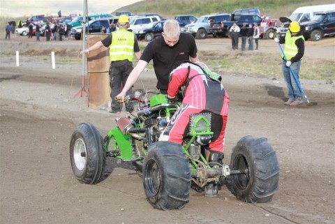
[[168, 89], [172, 70], [184, 61], [189, 61], [190, 57], [197, 57], [197, 52], [193, 36], [188, 33], [180, 33], [179, 41], [173, 47], [169, 47], [165, 43], [163, 36], [152, 40], [145, 47], [141, 60], [148, 63], [153, 60], [157, 77], [156, 87], [164, 92]]

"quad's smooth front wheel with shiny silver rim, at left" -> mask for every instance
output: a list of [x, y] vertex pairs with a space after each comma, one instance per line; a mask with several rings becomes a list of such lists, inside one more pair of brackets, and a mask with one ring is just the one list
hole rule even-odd
[[93, 124], [82, 123], [70, 140], [70, 160], [75, 178], [97, 184], [105, 170], [106, 150], [101, 133]]

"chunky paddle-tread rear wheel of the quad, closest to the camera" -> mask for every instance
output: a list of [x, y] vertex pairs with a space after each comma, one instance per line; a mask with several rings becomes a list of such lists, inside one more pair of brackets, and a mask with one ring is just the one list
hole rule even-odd
[[181, 145], [154, 142], [143, 165], [143, 186], [155, 209], [181, 209], [190, 200], [191, 171]]

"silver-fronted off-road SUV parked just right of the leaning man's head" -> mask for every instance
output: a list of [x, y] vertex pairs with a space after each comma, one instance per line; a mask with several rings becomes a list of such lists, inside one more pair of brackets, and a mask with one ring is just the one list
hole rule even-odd
[[204, 39], [211, 34], [211, 22], [221, 22], [228, 20], [230, 14], [202, 15], [197, 22], [187, 24], [184, 27], [185, 33], [191, 33], [197, 39]]

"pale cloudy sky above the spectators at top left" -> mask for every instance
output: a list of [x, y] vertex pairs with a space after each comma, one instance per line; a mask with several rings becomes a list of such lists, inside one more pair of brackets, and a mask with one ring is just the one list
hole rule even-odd
[[[112, 13], [123, 6], [139, 0], [87, 0], [89, 13]], [[62, 15], [70, 13], [82, 14], [84, 0], [0, 0], [0, 16], [21, 17], [30, 15]]]

